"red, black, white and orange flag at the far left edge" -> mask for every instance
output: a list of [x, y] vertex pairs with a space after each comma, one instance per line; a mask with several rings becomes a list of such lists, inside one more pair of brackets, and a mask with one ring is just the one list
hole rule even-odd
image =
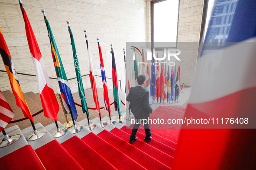
[[15, 101], [18, 107], [21, 108], [25, 117], [29, 117], [30, 120], [34, 123], [33, 117], [30, 113], [28, 104], [23, 96], [19, 85], [19, 79], [16, 73], [16, 69], [13, 64], [12, 57], [10, 55], [9, 49], [6, 45], [6, 42], [3, 38], [3, 33], [0, 29], [0, 54], [3, 59], [3, 64], [5, 66], [6, 72], [8, 74], [10, 85], [13, 90], [13, 95], [15, 96]]

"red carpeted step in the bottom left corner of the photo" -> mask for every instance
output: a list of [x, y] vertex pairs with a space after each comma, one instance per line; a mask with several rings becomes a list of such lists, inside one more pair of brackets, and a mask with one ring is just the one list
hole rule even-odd
[[0, 166], [0, 169], [2, 170], [45, 169], [30, 145], [26, 145], [10, 154], [7, 154], [4, 157], [1, 157]]

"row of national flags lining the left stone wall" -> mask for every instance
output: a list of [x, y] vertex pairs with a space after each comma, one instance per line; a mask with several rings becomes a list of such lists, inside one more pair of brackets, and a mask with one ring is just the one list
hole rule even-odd
[[[55, 97], [55, 93], [52, 89], [52, 85], [50, 83], [49, 76], [45, 69], [45, 65], [44, 65], [42, 55], [39, 50], [39, 46], [37, 44], [34, 32], [30, 25], [29, 19], [26, 15], [26, 11], [23, 8], [21, 3], [20, 3], [20, 6], [21, 6], [20, 9], [23, 14], [23, 19], [25, 22], [26, 36], [27, 36], [27, 41], [29, 44], [29, 50], [30, 50], [30, 53], [32, 56], [32, 61], [33, 61], [34, 68], [36, 71], [36, 78], [37, 78], [37, 82], [38, 82], [39, 94], [40, 94], [40, 98], [41, 98], [41, 102], [42, 102], [44, 115], [52, 120], [57, 121], [58, 120], [57, 113], [59, 111], [58, 101], [57, 101], [57, 99]], [[74, 99], [72, 97], [71, 89], [68, 85], [68, 79], [65, 74], [65, 69], [63, 67], [62, 60], [61, 60], [61, 57], [58, 52], [58, 48], [55, 43], [54, 36], [52, 34], [52, 29], [51, 29], [50, 24], [49, 24], [48, 20], [46, 19], [45, 15], [44, 15], [44, 19], [45, 19], [45, 24], [46, 24], [48, 34], [49, 34], [52, 59], [53, 59], [54, 66], [55, 66], [56, 76], [58, 79], [58, 84], [59, 84], [60, 92], [62, 95], [62, 101], [63, 101], [64, 107], [65, 107], [65, 112], [71, 113], [73, 119], [76, 120], [78, 114], [77, 114], [77, 110], [75, 107]], [[73, 50], [75, 72], [76, 72], [77, 82], [78, 82], [78, 93], [81, 98], [82, 110], [83, 110], [83, 113], [87, 113], [87, 116], [89, 118], [89, 112], [88, 112], [88, 107], [87, 107], [86, 98], [85, 98], [85, 94], [84, 94], [84, 87], [83, 87], [82, 78], [81, 78], [78, 56], [77, 56], [77, 52], [76, 52], [76, 48], [75, 48], [75, 41], [74, 41], [70, 27], [68, 28], [68, 31], [69, 31], [70, 37], [71, 37], [71, 46], [72, 46], [72, 50]], [[86, 35], [85, 35], [85, 39], [86, 39], [87, 50], [88, 50], [88, 54], [89, 54], [90, 79], [91, 79], [91, 85], [93, 88], [94, 102], [96, 105], [96, 109], [98, 110], [98, 112], [100, 114], [100, 107], [99, 107], [99, 101], [98, 101], [98, 96], [97, 96], [97, 87], [96, 87], [93, 63], [92, 63], [92, 58], [91, 58], [91, 50], [90, 50], [90, 46], [88, 44]], [[98, 44], [98, 47], [99, 47], [99, 53], [100, 53], [99, 56], [100, 56], [102, 83], [103, 83], [103, 87], [104, 87], [104, 104], [105, 104], [105, 109], [110, 113], [110, 102], [109, 102], [108, 91], [107, 91], [107, 80], [106, 80], [106, 75], [105, 75], [105, 71], [104, 71], [104, 63], [103, 63], [102, 53], [101, 53], [101, 49], [100, 49], [100, 44]], [[24, 116], [29, 117], [29, 119], [32, 121], [32, 123], [34, 123], [32, 114], [30, 113], [29, 107], [28, 107], [26, 100], [23, 96], [23, 93], [21, 91], [18, 76], [16, 73], [16, 69], [14, 67], [13, 60], [10, 56], [10, 52], [6, 45], [6, 41], [4, 40], [1, 29], [0, 29], [0, 54], [3, 59], [3, 63], [5, 65], [6, 72], [10, 79], [10, 85], [11, 85], [13, 94], [16, 99], [16, 104], [18, 107], [20, 107], [22, 109]], [[120, 116], [123, 116], [121, 101], [120, 101], [120, 94], [118, 91], [117, 69], [116, 69], [115, 57], [114, 57], [112, 47], [111, 47], [111, 54], [112, 54], [112, 68], [113, 68], [112, 76], [113, 76], [113, 94], [114, 94], [114, 101], [115, 101], [115, 110], [118, 110]], [[5, 126], [10, 122], [10, 120], [13, 119], [14, 114], [1, 92], [0, 92], [0, 101], [1, 101], [0, 102], [0, 132], [1, 132], [5, 128]]]

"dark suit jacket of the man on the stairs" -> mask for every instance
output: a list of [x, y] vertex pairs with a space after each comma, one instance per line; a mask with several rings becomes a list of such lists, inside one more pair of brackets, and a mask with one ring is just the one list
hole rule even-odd
[[126, 97], [126, 101], [130, 101], [131, 112], [139, 119], [148, 119], [150, 113], [153, 112], [149, 106], [149, 92], [142, 86], [130, 88], [130, 92]]

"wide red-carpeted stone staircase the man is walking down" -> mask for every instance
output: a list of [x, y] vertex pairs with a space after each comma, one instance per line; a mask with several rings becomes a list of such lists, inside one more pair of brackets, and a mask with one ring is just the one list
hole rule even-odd
[[[9, 102], [10, 106], [18, 110], [13, 102], [13, 94], [10, 91], [3, 94], [8, 102], [12, 101], [12, 103]], [[33, 108], [32, 113], [42, 108], [38, 95], [30, 92], [25, 94], [25, 98], [26, 100], [30, 98], [29, 107]], [[59, 115], [63, 116], [63, 113], [58, 113], [58, 117]], [[39, 117], [36, 120], [40, 121]], [[104, 117], [103, 120], [108, 118]], [[54, 139], [49, 132], [54, 131], [56, 126], [52, 120], [49, 121], [52, 124], [45, 127], [41, 123], [36, 124], [36, 128], [48, 130], [41, 139], [27, 142], [24, 136], [32, 132], [32, 127], [28, 127], [22, 130], [24, 134], [21, 137], [22, 140], [0, 148], [1, 169], [171, 169], [176, 143], [154, 132], [152, 132], [152, 141], [144, 142], [144, 129], [139, 129], [137, 133], [139, 139], [130, 144], [132, 129], [116, 123], [114, 126], [107, 125], [104, 129], [97, 126], [91, 132], [85, 128], [76, 134], [68, 131], [62, 137]], [[98, 118], [91, 120], [93, 123], [97, 121]], [[58, 122], [58, 124], [60, 128], [64, 127], [61, 123]], [[82, 120], [79, 124], [84, 126], [87, 120]], [[6, 132], [12, 133], [11, 129], [14, 128], [19, 130], [18, 126], [13, 126], [9, 128], [10, 132], [9, 129], [6, 129]], [[17, 149], [9, 153], [8, 148]]]

